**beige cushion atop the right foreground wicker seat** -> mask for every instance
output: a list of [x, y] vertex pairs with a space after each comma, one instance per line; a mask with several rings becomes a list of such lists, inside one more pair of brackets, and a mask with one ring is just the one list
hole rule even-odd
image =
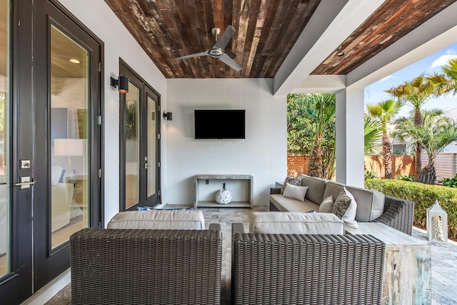
[[344, 234], [344, 222], [331, 213], [253, 212], [251, 233]]

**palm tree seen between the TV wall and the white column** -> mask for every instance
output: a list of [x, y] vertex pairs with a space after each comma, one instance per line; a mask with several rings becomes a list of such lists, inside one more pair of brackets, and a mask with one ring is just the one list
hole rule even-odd
[[308, 99], [307, 115], [314, 121], [313, 131], [316, 134], [313, 149], [308, 157], [308, 175], [323, 177], [322, 138], [327, 126], [335, 117], [335, 94], [311, 94]]

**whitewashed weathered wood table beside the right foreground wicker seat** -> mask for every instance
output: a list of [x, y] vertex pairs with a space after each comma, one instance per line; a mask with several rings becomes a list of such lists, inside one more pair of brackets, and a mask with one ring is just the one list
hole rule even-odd
[[431, 304], [431, 246], [377, 222], [346, 226], [346, 234], [370, 234], [386, 243], [381, 304]]

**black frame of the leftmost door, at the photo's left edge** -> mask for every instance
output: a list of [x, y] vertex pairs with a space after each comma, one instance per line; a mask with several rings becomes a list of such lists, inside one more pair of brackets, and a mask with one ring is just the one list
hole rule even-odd
[[[31, 229], [31, 198], [32, 189], [20, 190], [13, 184], [19, 181], [19, 176], [32, 176], [31, 169], [19, 169], [19, 160], [32, 159], [32, 72], [31, 72], [31, 16], [32, 7], [24, 5], [20, 0], [10, 1], [10, 80], [9, 91], [9, 143], [11, 149], [11, 168], [9, 169], [9, 195], [11, 202], [11, 272], [0, 280], [0, 295], [5, 304], [19, 304], [29, 296], [32, 291], [32, 229]], [[11, 102], [11, 103], [10, 103]], [[21, 134], [21, 136], [19, 136]]]

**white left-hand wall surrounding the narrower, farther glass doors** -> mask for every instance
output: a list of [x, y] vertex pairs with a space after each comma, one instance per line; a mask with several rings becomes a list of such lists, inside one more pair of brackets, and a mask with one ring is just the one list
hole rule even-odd
[[[119, 58], [131, 66], [161, 94], [166, 109], [166, 79], [104, 1], [61, 0], [87, 28], [104, 42], [104, 120], [105, 132], [105, 224], [119, 211], [119, 93], [109, 78], [119, 75]], [[162, 162], [166, 164], [166, 134], [162, 141]], [[163, 170], [164, 171], [163, 167]], [[164, 176], [164, 173], [162, 173]]]

